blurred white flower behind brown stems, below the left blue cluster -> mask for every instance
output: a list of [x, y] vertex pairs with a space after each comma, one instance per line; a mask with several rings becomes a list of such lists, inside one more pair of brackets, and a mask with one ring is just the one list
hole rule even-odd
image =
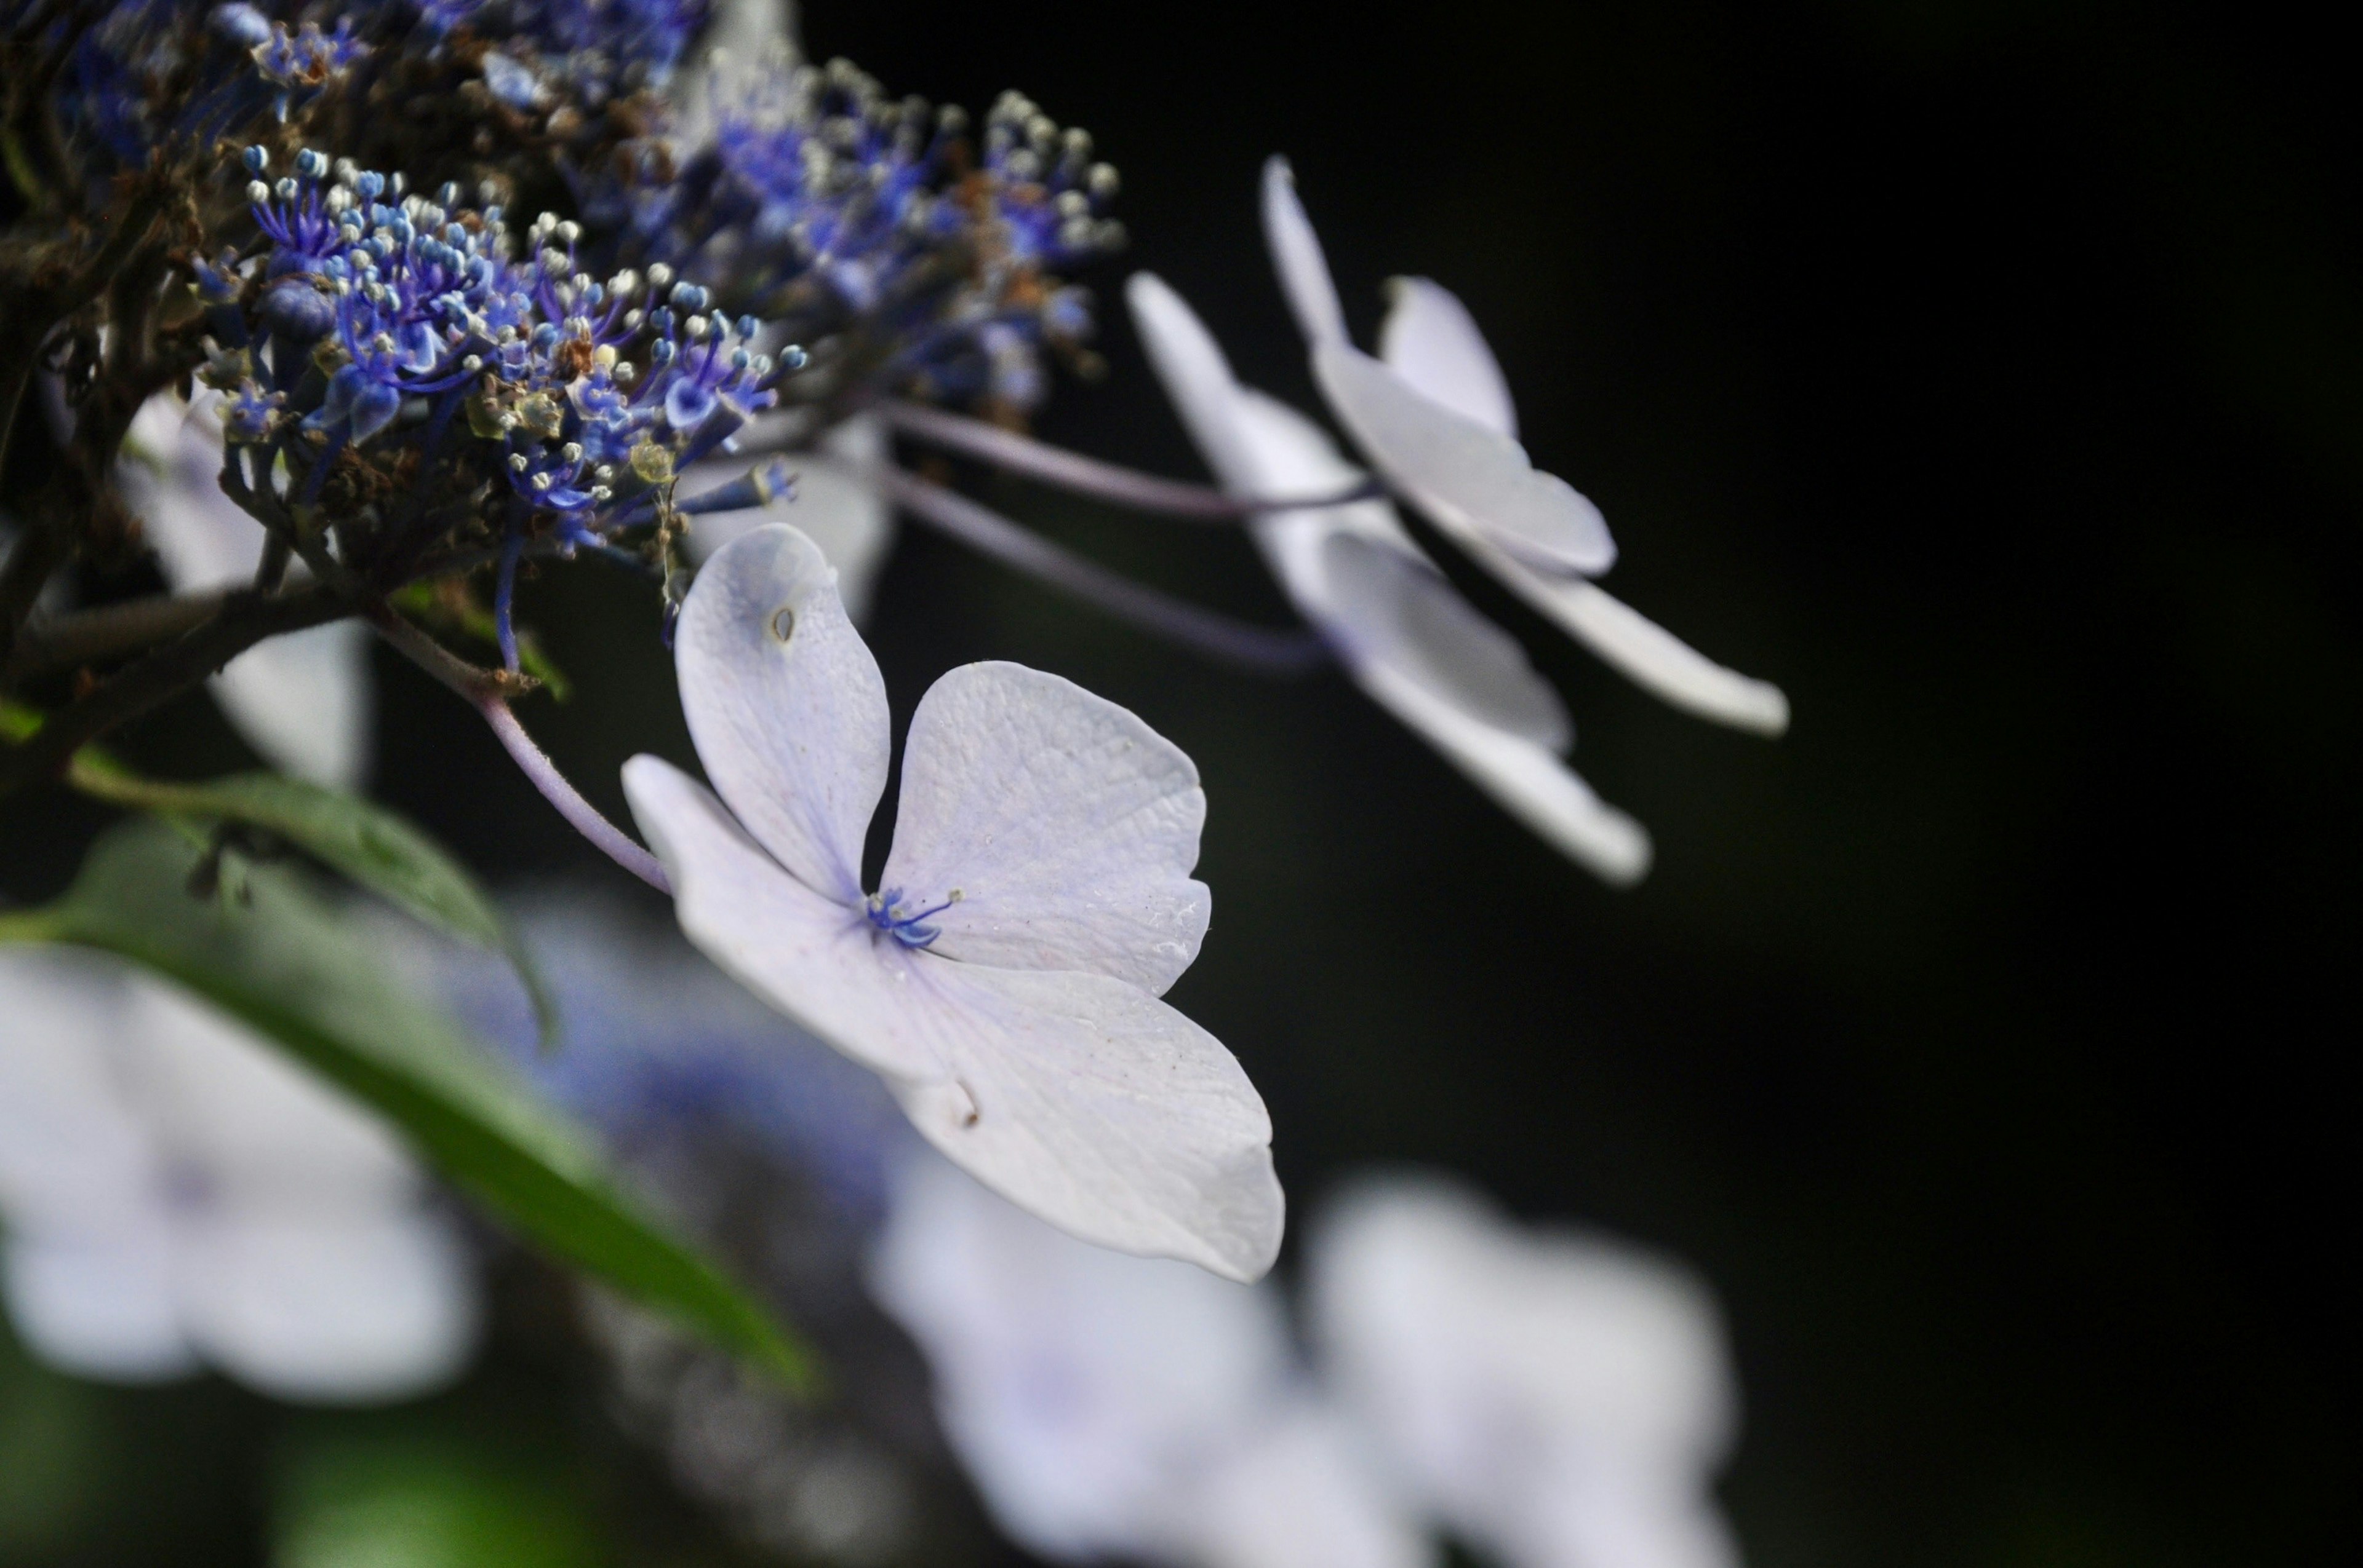
[[[203, 404], [217, 394], [206, 394]], [[116, 489], [147, 524], [175, 593], [250, 583], [262, 562], [262, 524], [222, 494], [222, 423], [158, 392], [132, 418], [116, 460]], [[293, 567], [298, 574], [302, 567]], [[357, 789], [369, 772], [376, 699], [369, 628], [331, 621], [258, 642], [222, 666], [213, 697], [274, 767]]]

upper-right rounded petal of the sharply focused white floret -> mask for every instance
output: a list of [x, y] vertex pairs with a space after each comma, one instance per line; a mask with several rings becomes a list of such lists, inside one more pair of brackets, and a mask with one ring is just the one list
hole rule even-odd
[[919, 701], [881, 888], [940, 928], [931, 952], [1080, 968], [1163, 992], [1198, 956], [1205, 791], [1127, 708], [1021, 664], [969, 664]]

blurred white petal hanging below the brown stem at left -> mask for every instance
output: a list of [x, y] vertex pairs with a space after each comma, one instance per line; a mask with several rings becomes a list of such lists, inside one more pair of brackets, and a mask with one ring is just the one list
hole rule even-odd
[[366, 779], [378, 704], [359, 621], [258, 642], [213, 678], [213, 697], [274, 767], [333, 789]]

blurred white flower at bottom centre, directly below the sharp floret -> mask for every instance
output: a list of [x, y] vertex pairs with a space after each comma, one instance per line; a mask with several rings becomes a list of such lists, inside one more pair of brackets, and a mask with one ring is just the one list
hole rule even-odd
[[1427, 1544], [1295, 1365], [1281, 1301], [1075, 1242], [940, 1159], [900, 1174], [872, 1294], [1026, 1549], [1165, 1568], [1420, 1568]]

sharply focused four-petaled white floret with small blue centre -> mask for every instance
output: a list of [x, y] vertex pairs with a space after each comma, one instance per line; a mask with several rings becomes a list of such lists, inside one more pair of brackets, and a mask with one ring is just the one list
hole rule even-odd
[[1191, 760], [1056, 675], [957, 668], [912, 716], [870, 895], [886, 685], [822, 553], [785, 524], [723, 545], [673, 647], [714, 789], [640, 756], [624, 791], [690, 940], [1054, 1226], [1238, 1280], [1271, 1268], [1271, 1119], [1222, 1041], [1158, 1001], [1210, 909]]

